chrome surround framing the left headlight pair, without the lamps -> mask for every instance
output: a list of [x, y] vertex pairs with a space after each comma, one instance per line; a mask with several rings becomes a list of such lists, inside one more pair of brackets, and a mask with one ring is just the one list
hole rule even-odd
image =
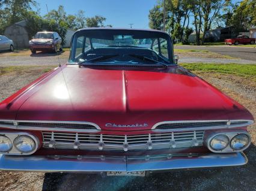
[[35, 141], [35, 149], [30, 152], [30, 153], [21, 153], [19, 150], [17, 150], [17, 148], [13, 145], [13, 148], [11, 148], [10, 151], [8, 151], [8, 153], [4, 153], [4, 152], [0, 152], [0, 154], [11, 154], [11, 155], [29, 155], [29, 154], [33, 154], [35, 153], [35, 151], [37, 151], [38, 147], [39, 147], [39, 140], [37, 137], [35, 137], [32, 134], [29, 134], [27, 132], [8, 132], [8, 131], [1, 131], [0, 135], [4, 135], [5, 137], [8, 137], [11, 140], [11, 143], [14, 142], [16, 137], [19, 137], [20, 135], [26, 135], [28, 137], [31, 137], [32, 140]]

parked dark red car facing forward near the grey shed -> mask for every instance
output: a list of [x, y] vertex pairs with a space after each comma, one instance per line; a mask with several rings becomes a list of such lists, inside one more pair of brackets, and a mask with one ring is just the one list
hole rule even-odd
[[37, 51], [62, 51], [61, 37], [57, 32], [37, 32], [32, 40], [29, 41], [31, 53]]

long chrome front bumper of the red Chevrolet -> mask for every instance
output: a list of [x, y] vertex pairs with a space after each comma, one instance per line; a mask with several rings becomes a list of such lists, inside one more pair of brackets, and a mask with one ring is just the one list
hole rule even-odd
[[168, 171], [245, 165], [241, 153], [164, 154], [154, 156], [7, 156], [0, 155], [2, 171], [106, 172]]

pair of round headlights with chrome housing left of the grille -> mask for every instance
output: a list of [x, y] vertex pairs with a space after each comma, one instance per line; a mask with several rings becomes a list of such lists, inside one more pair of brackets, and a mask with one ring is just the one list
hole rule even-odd
[[0, 153], [32, 154], [38, 148], [38, 139], [31, 134], [5, 133], [0, 135]]

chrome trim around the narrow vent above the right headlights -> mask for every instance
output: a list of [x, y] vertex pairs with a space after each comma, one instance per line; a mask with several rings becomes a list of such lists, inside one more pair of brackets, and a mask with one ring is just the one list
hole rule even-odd
[[[173, 129], [156, 129], [157, 126], [163, 124], [170, 124], [170, 123], [200, 123], [200, 122], [245, 122], [244, 124], [239, 125], [221, 125], [221, 126], [207, 126], [207, 127], [200, 127], [200, 128], [173, 128]], [[224, 128], [238, 128], [242, 126], [248, 126], [254, 123], [253, 120], [183, 120], [183, 121], [165, 121], [156, 123], [151, 130], [154, 132], [176, 132], [176, 131], [203, 131], [209, 129], [224, 129]]]

